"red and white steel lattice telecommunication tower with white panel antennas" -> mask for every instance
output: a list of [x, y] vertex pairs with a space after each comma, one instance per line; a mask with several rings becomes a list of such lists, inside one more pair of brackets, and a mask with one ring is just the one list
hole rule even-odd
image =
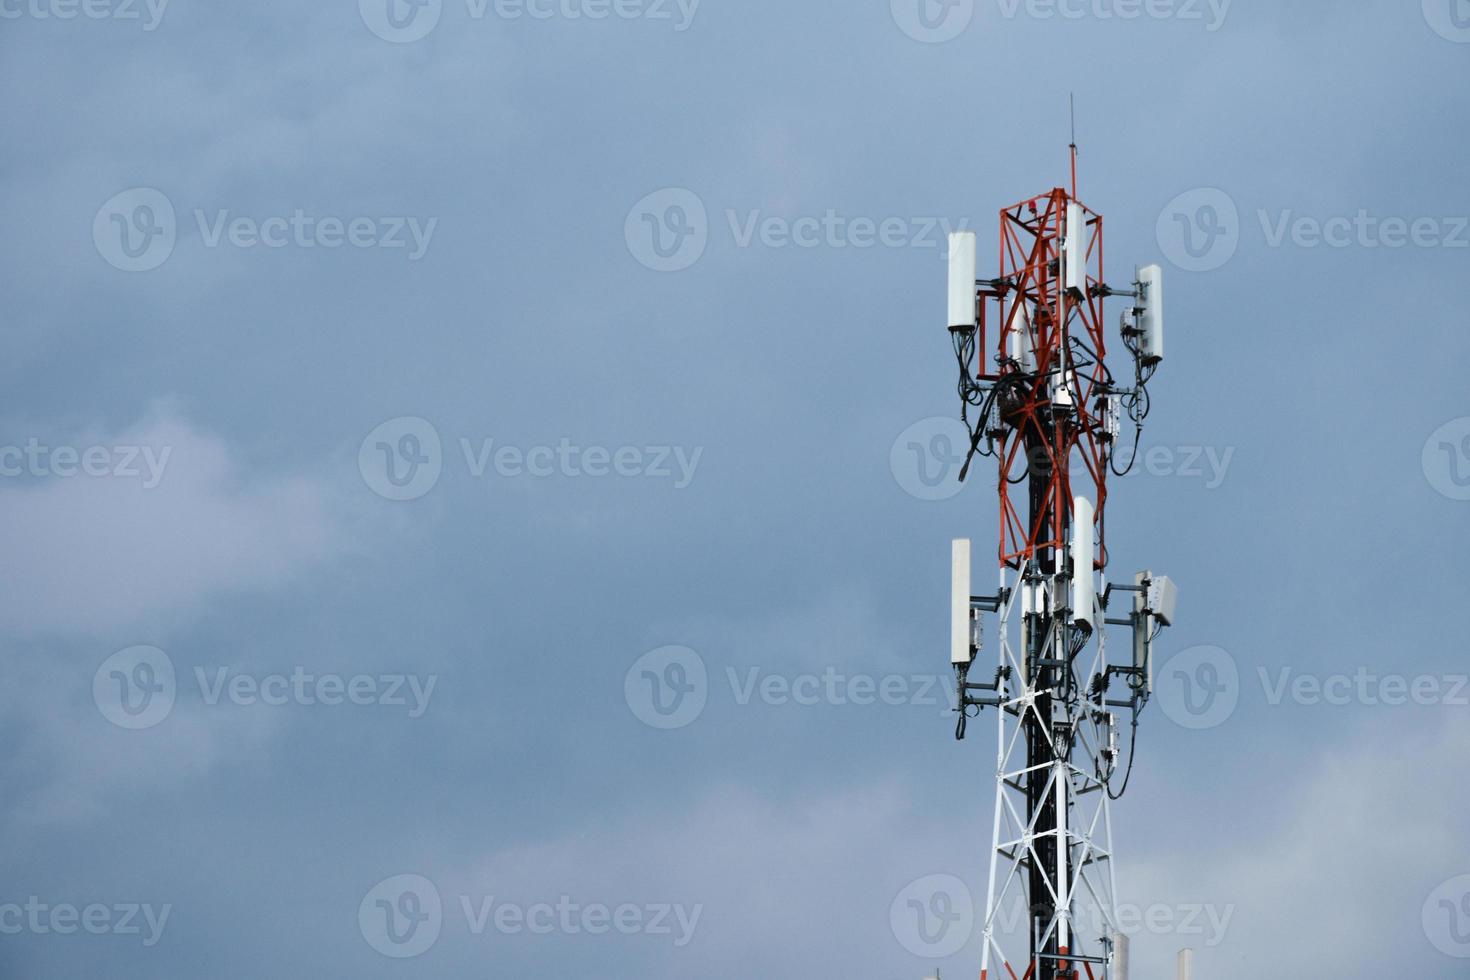
[[[992, 708], [998, 741], [980, 980], [1126, 980], [1108, 804], [1127, 786], [1152, 642], [1176, 604], [1175, 585], [1151, 572], [1107, 582], [1107, 478], [1138, 455], [1164, 359], [1163, 270], [1107, 285], [1102, 216], [1078, 200], [1076, 143], [1070, 156], [1070, 190], [1001, 212], [997, 278], [976, 278], [975, 232], [950, 239], [948, 326], [970, 430], [960, 479], [992, 457], [1000, 488], [998, 591], [975, 595], [969, 541], [953, 552], [956, 736]], [[1122, 375], [1108, 367], [1110, 298], [1125, 301]], [[972, 682], [988, 619], [997, 670]], [[1130, 632], [1120, 663], [1108, 658], [1110, 626]], [[1014, 908], [1025, 917], [1007, 927]]]

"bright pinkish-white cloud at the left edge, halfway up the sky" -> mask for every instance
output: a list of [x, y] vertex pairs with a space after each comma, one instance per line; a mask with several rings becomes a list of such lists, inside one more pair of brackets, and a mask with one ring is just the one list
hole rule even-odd
[[[10, 445], [26, 441], [12, 429]], [[13, 630], [128, 645], [131, 630], [156, 635], [210, 597], [282, 586], [343, 544], [323, 480], [250, 479], [220, 439], [176, 414], [66, 442], [140, 447], [162, 476], [150, 486], [140, 453], [138, 476], [0, 480], [0, 616]]]

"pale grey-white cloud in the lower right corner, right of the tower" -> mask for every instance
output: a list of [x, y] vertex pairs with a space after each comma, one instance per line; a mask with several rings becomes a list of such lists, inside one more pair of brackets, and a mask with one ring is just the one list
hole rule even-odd
[[1351, 743], [1258, 760], [1258, 792], [1238, 805], [1272, 814], [1267, 833], [1236, 836], [1222, 814], [1198, 849], [1130, 861], [1125, 898], [1233, 907], [1213, 949], [1198, 936], [1135, 939], [1135, 976], [1173, 977], [1183, 946], [1202, 980], [1261, 964], [1283, 977], [1451, 976], [1420, 911], [1436, 884], [1470, 873], [1470, 788], [1451, 776], [1470, 767], [1470, 721], [1410, 721], [1380, 714]]

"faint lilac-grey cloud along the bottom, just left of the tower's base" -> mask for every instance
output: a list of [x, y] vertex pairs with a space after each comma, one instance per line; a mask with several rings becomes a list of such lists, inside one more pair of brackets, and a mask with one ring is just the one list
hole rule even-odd
[[[438, 880], [445, 908], [494, 895], [529, 905], [562, 895], [582, 905], [703, 905], [694, 942], [657, 946], [667, 977], [878, 976], [878, 961], [916, 964], [889, 934], [888, 908], [910, 880], [895, 842], [914, 833], [895, 783], [795, 801], [722, 789], [685, 814], [628, 818], [564, 839], [507, 848]], [[922, 826], [922, 824], [920, 824]], [[507, 942], [507, 940], [500, 940]], [[826, 970], [823, 970], [823, 967]]]

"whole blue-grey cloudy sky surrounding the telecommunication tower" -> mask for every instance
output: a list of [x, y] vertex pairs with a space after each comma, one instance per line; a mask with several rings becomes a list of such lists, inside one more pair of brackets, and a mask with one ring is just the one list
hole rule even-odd
[[1169, 279], [1133, 976], [1464, 976], [1466, 0], [0, 0], [0, 976], [975, 976], [994, 475], [906, 450], [944, 232], [994, 266], [1069, 93]]

